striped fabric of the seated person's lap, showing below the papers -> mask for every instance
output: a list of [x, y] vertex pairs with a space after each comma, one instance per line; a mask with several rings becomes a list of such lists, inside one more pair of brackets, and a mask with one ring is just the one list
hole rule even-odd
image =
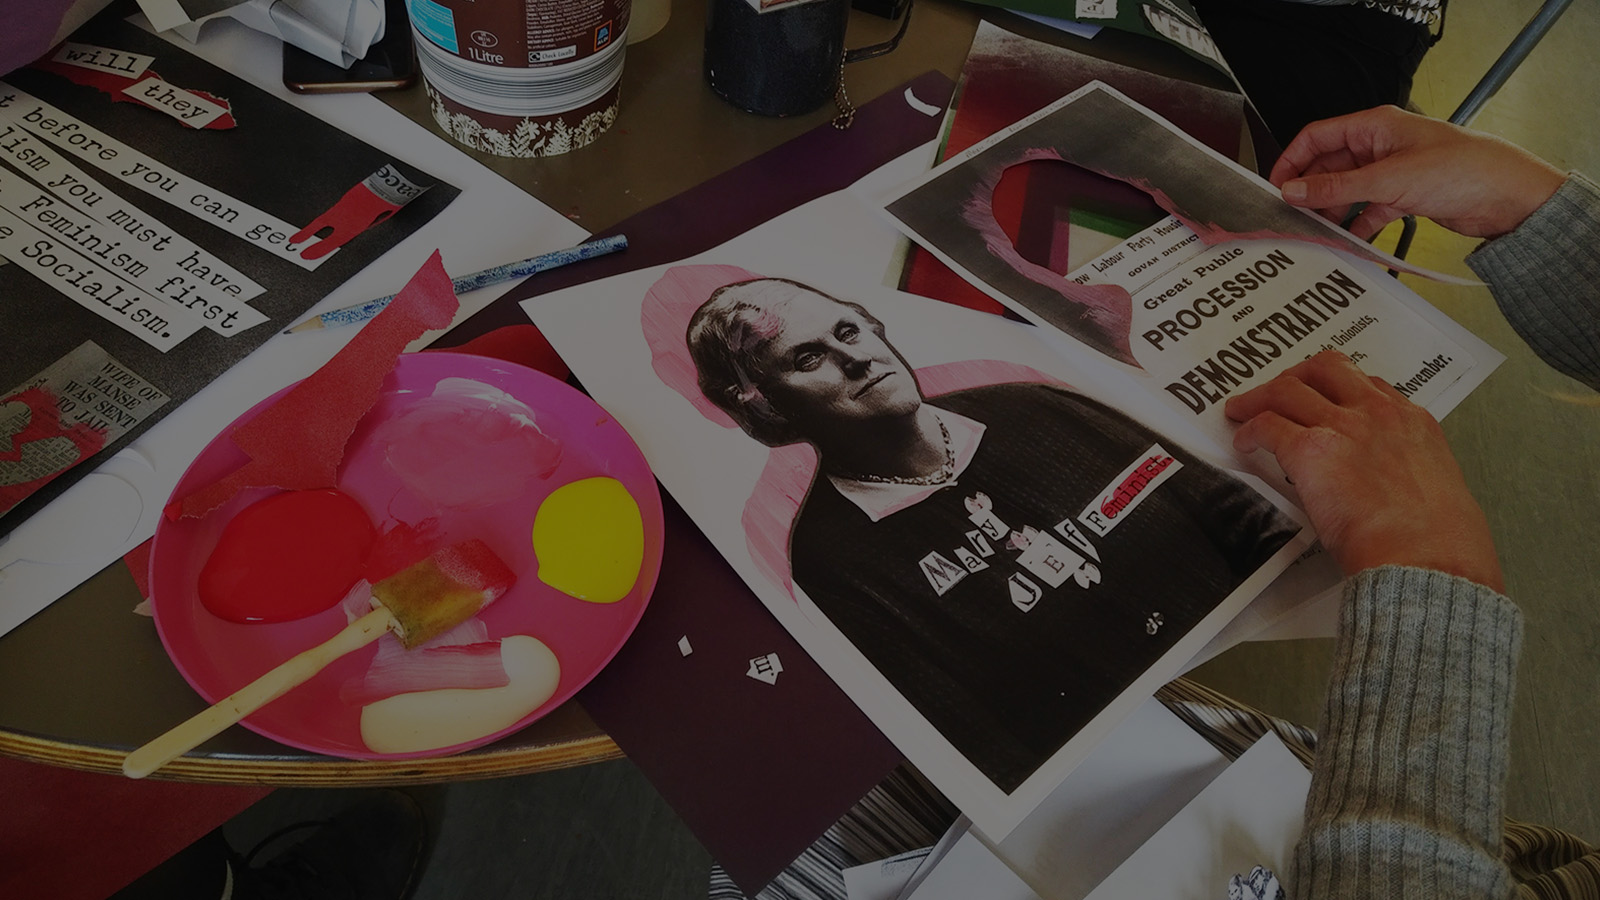
[[[1155, 698], [1227, 759], [1272, 732], [1307, 769], [1317, 751], [1310, 729], [1269, 716], [1189, 679]], [[710, 900], [846, 900], [843, 870], [934, 844], [960, 814], [915, 769], [902, 764], [754, 897], [712, 866]], [[1506, 820], [1506, 865], [1517, 900], [1600, 900], [1600, 850], [1542, 825]]]

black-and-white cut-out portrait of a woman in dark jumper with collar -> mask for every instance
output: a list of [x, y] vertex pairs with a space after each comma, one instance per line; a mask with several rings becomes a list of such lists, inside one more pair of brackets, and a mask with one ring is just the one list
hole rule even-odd
[[1299, 530], [1064, 384], [925, 391], [866, 306], [795, 280], [718, 287], [685, 341], [746, 434], [814, 450], [794, 585], [1006, 793]]

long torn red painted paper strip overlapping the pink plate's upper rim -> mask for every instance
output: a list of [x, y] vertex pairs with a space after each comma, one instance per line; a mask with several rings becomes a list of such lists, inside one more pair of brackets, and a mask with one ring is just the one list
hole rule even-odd
[[394, 303], [368, 322], [338, 356], [232, 432], [250, 461], [166, 509], [205, 516], [246, 487], [315, 490], [336, 487], [344, 445], [378, 402], [384, 376], [406, 344], [445, 328], [461, 303], [435, 250]]

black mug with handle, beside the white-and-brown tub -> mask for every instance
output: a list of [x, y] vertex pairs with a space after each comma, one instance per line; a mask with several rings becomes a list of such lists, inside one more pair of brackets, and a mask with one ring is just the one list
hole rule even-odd
[[834, 96], [846, 62], [899, 46], [910, 3], [899, 30], [883, 43], [845, 50], [848, 24], [850, 0], [787, 0], [766, 13], [757, 13], [749, 0], [709, 0], [706, 80], [717, 96], [746, 112], [811, 112]]

